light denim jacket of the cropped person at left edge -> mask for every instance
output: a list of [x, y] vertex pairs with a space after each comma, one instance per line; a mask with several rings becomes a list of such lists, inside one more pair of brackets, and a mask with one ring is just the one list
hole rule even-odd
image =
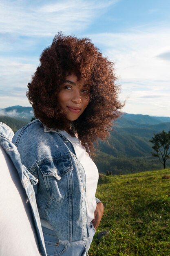
[[7, 153], [7, 155], [9, 155], [16, 170], [18, 171], [22, 186], [26, 192], [28, 201], [30, 202], [33, 220], [35, 224], [35, 230], [37, 232], [40, 254], [42, 256], [46, 256], [46, 249], [45, 249], [44, 238], [42, 234], [40, 217], [38, 214], [38, 208], [37, 208], [34, 189], [33, 189], [33, 185], [37, 184], [38, 180], [26, 170], [25, 166], [22, 165], [20, 154], [18, 153], [16, 146], [11, 142], [13, 135], [14, 133], [11, 130], [11, 128], [9, 128], [9, 126], [7, 126], [6, 124], [3, 124], [2, 122], [0, 122], [0, 145], [2, 146], [4, 151]]

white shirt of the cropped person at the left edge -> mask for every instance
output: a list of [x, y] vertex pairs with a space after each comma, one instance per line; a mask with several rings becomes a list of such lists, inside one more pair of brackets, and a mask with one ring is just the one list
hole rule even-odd
[[11, 159], [0, 146], [0, 256], [40, 256], [31, 207]]

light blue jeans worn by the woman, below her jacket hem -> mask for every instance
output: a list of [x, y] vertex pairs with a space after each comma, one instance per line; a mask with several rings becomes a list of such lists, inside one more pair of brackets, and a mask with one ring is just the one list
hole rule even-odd
[[[62, 245], [59, 243], [58, 237], [55, 235], [54, 231], [42, 227], [44, 242], [46, 246], [47, 256], [86, 256], [86, 249], [84, 245]], [[87, 249], [90, 249], [93, 236], [95, 234], [95, 228], [92, 222], [88, 225], [89, 240]]]

